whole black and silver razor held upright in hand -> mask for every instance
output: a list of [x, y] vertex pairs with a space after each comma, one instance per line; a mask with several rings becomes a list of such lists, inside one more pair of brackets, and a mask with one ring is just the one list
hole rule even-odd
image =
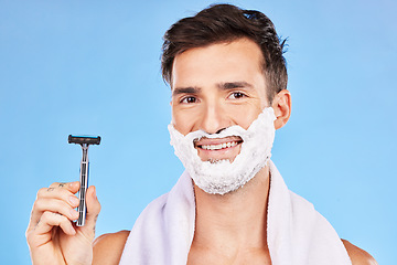
[[89, 145], [99, 145], [100, 144], [100, 136], [68, 136], [68, 144], [76, 144], [82, 146], [83, 150], [83, 158], [81, 162], [81, 189], [78, 191], [78, 200], [79, 204], [77, 208], [78, 219], [76, 222], [77, 226], [84, 226], [86, 213], [87, 213], [87, 205], [86, 205], [86, 191], [88, 188], [88, 146]]

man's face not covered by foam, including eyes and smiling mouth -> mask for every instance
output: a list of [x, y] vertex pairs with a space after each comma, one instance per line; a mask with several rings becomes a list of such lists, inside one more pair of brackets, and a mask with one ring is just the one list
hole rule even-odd
[[[216, 134], [233, 125], [247, 129], [268, 106], [259, 46], [239, 39], [187, 50], [174, 59], [172, 120], [182, 135]], [[194, 142], [202, 161], [228, 159], [240, 151], [239, 137]]]

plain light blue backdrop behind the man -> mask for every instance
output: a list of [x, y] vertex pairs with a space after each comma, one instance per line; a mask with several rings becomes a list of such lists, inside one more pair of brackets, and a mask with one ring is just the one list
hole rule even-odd
[[[396, 1], [229, 1], [288, 36], [293, 110], [273, 161], [340, 236], [397, 263]], [[162, 34], [212, 1], [0, 0], [0, 263], [29, 264], [36, 191], [78, 180], [89, 150], [98, 235], [130, 230], [183, 167], [169, 145]]]

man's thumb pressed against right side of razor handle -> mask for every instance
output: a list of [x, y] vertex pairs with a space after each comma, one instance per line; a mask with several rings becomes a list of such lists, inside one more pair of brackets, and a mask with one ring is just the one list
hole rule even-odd
[[86, 192], [87, 214], [85, 225], [81, 226], [81, 231], [86, 234], [89, 239], [95, 237], [95, 225], [100, 212], [100, 203], [96, 197], [95, 186], [87, 189]]

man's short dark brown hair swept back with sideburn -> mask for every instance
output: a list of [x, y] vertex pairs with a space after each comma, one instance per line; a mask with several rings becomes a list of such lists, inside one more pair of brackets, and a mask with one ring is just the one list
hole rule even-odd
[[194, 17], [181, 19], [165, 32], [162, 45], [161, 70], [163, 80], [171, 85], [173, 61], [189, 49], [215, 43], [227, 43], [247, 38], [260, 47], [262, 71], [268, 82], [267, 97], [287, 88], [287, 66], [283, 57], [286, 40], [281, 40], [271, 20], [255, 10], [232, 4], [214, 4]]

